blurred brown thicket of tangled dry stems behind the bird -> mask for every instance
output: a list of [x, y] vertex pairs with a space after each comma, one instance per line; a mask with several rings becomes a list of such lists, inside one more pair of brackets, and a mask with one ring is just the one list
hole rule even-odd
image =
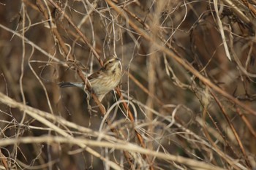
[[[239, 0], [233, 4], [112, 2], [0, 1], [0, 92], [29, 107], [115, 136], [92, 99], [88, 105], [83, 90], [59, 88], [58, 83], [82, 82], [72, 63], [89, 75], [101, 68], [97, 55], [104, 60], [116, 54], [124, 68], [119, 88], [135, 122], [127, 118], [114, 91], [102, 104], [110, 111], [111, 123], [127, 134], [122, 140], [138, 144], [136, 128], [150, 150], [222, 169], [256, 167], [255, 4]], [[166, 50], [223, 93], [212, 90]], [[0, 111], [0, 140], [59, 136], [20, 109], [0, 103]], [[53, 124], [74, 137], [97, 140], [58, 121]], [[131, 168], [122, 150], [92, 148], [122, 169]], [[10, 169], [109, 168], [105, 161], [79, 149], [75, 144], [30, 142], [1, 146], [0, 153]], [[157, 156], [148, 156], [146, 161], [135, 154], [138, 158], [132, 155], [131, 169], [192, 169], [186, 163]], [[6, 167], [1, 164], [1, 169]]]

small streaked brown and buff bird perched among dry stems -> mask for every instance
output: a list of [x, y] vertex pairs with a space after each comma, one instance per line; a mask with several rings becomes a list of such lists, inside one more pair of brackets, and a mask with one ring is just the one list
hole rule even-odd
[[[94, 93], [101, 102], [105, 95], [116, 88], [121, 81], [122, 65], [119, 58], [114, 55], [103, 61], [103, 66], [97, 72], [88, 77], [91, 92]], [[83, 82], [60, 82], [60, 88], [78, 87], [86, 89]], [[86, 90], [88, 91], [88, 90]]]

